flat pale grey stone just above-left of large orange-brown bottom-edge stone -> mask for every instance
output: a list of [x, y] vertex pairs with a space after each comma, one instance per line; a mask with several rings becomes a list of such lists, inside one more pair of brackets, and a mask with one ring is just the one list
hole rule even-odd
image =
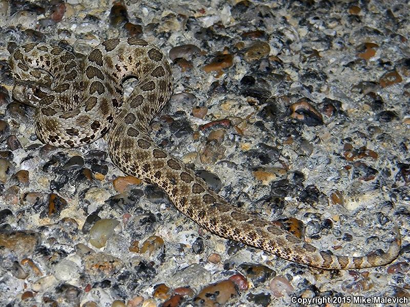
[[191, 288], [199, 289], [211, 281], [211, 276], [211, 272], [204, 269], [201, 265], [192, 264], [177, 271], [169, 286], [171, 288], [178, 288], [189, 284]]

